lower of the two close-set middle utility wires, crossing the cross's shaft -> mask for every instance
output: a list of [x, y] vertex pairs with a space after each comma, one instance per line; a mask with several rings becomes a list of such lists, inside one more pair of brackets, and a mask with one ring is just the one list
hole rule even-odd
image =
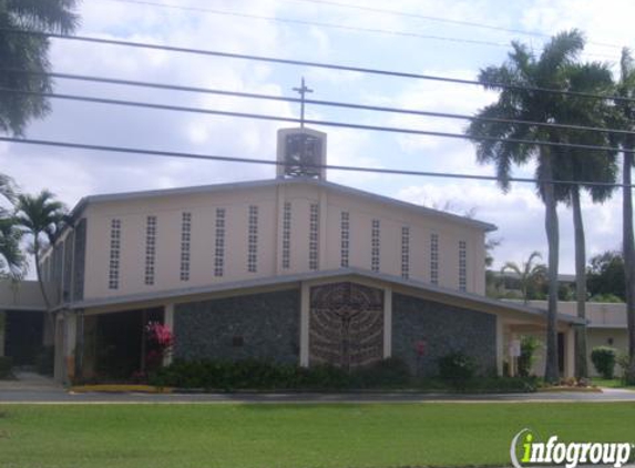
[[459, 140], [470, 140], [470, 141], [490, 141], [496, 143], [512, 143], [512, 144], [525, 144], [525, 145], [536, 145], [536, 146], [549, 146], [549, 147], [561, 147], [561, 149], [575, 149], [585, 151], [606, 151], [606, 152], [622, 152], [622, 153], [633, 153], [635, 150], [627, 150], [617, 146], [604, 146], [604, 145], [590, 145], [590, 144], [578, 144], [578, 143], [561, 143], [561, 142], [550, 142], [543, 140], [525, 140], [525, 139], [502, 139], [495, 136], [468, 136], [463, 133], [449, 133], [449, 132], [437, 132], [430, 130], [417, 130], [417, 129], [403, 129], [396, 126], [382, 126], [382, 125], [366, 125], [358, 123], [348, 122], [332, 122], [326, 120], [311, 120], [311, 119], [296, 119], [296, 118], [285, 118], [279, 115], [267, 115], [267, 114], [255, 114], [252, 112], [235, 112], [235, 111], [218, 111], [212, 109], [202, 108], [190, 108], [183, 105], [171, 105], [171, 104], [155, 104], [150, 102], [139, 102], [139, 101], [127, 101], [119, 99], [105, 99], [95, 96], [84, 96], [75, 94], [61, 94], [61, 93], [42, 93], [35, 91], [21, 91], [13, 90], [10, 88], [0, 88], [0, 92], [22, 94], [22, 95], [38, 95], [42, 98], [50, 99], [62, 99], [68, 101], [82, 101], [91, 102], [96, 104], [112, 104], [112, 105], [124, 105], [130, 108], [145, 108], [163, 111], [176, 111], [176, 112], [190, 112], [197, 114], [209, 114], [209, 115], [227, 115], [244, 119], [257, 119], [257, 120], [268, 120], [277, 122], [291, 122], [291, 123], [305, 123], [313, 125], [324, 125], [324, 126], [336, 126], [345, 129], [356, 129], [356, 130], [369, 130], [376, 132], [389, 132], [389, 133], [403, 133], [411, 135], [426, 135], [426, 136], [439, 136], [447, 139], [459, 139]]

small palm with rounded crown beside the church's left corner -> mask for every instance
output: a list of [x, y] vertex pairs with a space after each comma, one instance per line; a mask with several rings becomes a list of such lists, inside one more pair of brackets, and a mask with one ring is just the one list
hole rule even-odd
[[47, 295], [47, 288], [42, 278], [40, 267], [40, 255], [42, 250], [52, 245], [55, 235], [60, 232], [66, 208], [55, 200], [55, 196], [48, 190], [43, 190], [37, 196], [19, 195], [16, 218], [24, 233], [32, 237], [32, 252], [35, 260], [35, 272], [40, 291], [44, 298], [47, 309], [51, 309], [51, 301]]

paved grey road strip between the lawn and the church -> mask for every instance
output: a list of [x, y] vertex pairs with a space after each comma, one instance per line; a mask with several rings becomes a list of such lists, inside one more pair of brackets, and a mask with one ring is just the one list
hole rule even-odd
[[448, 395], [420, 393], [235, 393], [235, 394], [106, 394], [66, 391], [52, 379], [37, 374], [22, 373], [18, 380], [0, 380], [0, 404], [2, 403], [291, 403], [291, 404], [331, 404], [331, 403], [488, 403], [488, 401], [633, 401], [635, 391], [604, 389], [603, 393], [537, 393], [537, 394], [488, 394], [488, 395]]

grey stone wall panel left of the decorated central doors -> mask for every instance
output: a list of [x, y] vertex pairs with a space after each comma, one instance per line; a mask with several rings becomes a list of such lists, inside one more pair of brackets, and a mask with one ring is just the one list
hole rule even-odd
[[299, 289], [174, 307], [176, 358], [299, 363]]

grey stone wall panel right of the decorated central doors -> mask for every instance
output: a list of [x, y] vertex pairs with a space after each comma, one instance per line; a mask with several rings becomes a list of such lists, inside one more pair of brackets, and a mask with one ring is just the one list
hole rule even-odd
[[[419, 340], [426, 342], [421, 357], [416, 350]], [[495, 316], [393, 294], [392, 356], [404, 359], [419, 376], [436, 376], [438, 359], [452, 352], [472, 356], [480, 374], [495, 373]]]

